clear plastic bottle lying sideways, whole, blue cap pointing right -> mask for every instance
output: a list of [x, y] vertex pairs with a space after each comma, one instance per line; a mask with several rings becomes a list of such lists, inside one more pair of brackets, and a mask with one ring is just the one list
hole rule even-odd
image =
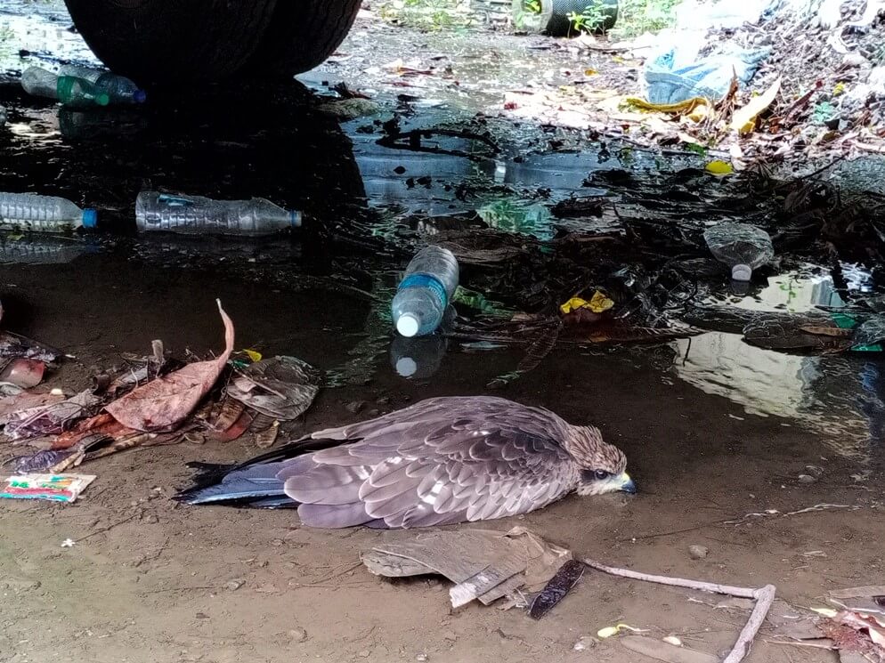
[[158, 191], [142, 191], [135, 200], [138, 230], [166, 230], [186, 235], [259, 237], [301, 227], [301, 213], [264, 198], [213, 200]]

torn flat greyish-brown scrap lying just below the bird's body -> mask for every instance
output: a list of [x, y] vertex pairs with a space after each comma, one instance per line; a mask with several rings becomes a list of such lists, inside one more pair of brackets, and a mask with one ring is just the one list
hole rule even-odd
[[[451, 605], [507, 597], [525, 605], [524, 594], [543, 590], [572, 554], [530, 530], [451, 530], [386, 541], [360, 555], [370, 572], [388, 578], [438, 573], [452, 582]], [[552, 607], [552, 606], [551, 606]]]

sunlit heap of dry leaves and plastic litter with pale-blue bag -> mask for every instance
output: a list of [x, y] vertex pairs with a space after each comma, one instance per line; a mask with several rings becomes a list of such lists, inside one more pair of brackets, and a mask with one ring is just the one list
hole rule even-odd
[[[503, 109], [643, 146], [710, 153], [735, 171], [882, 154], [883, 11], [872, 0], [685, 0], [676, 28], [616, 43], [582, 35], [574, 40], [589, 67], [574, 81], [582, 85], [515, 90]], [[638, 69], [638, 84], [629, 69]]]

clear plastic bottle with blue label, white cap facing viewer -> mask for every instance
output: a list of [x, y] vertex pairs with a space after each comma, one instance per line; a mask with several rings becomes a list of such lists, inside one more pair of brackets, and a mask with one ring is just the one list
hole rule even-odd
[[402, 336], [434, 332], [458, 287], [458, 261], [450, 250], [426, 247], [411, 259], [391, 310]]

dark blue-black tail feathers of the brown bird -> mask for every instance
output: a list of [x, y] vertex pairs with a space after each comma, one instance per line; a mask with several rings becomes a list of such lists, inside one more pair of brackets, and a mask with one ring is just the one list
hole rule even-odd
[[249, 459], [240, 465], [189, 463], [197, 470], [193, 485], [173, 499], [191, 505], [224, 504], [253, 508], [294, 507], [297, 503], [286, 496], [283, 481], [276, 478], [288, 460], [304, 454], [341, 444], [340, 440], [303, 438], [280, 449]]

